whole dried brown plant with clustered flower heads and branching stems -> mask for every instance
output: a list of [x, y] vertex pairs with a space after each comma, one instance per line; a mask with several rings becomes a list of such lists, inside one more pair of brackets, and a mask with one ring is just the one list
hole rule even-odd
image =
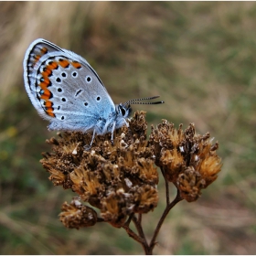
[[[221, 169], [221, 159], [209, 133], [199, 135], [194, 124], [176, 130], [163, 120], [152, 126], [147, 140], [145, 112], [135, 112], [129, 127], [96, 136], [89, 151], [91, 133], [58, 133], [51, 138], [52, 153], [43, 153], [42, 165], [55, 186], [70, 188], [77, 194], [62, 205], [60, 221], [69, 229], [108, 222], [123, 228], [133, 240], [152, 254], [156, 237], [171, 208], [186, 199], [196, 201], [201, 189], [208, 187]], [[150, 242], [145, 239], [142, 216], [153, 211], [158, 202], [158, 172], [165, 178], [166, 206]], [[176, 187], [176, 197], [169, 198], [169, 183]], [[130, 228], [133, 221], [137, 232]]]

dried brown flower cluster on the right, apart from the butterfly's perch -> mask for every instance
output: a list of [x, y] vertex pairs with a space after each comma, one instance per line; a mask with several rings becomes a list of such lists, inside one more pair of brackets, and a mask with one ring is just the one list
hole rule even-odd
[[185, 131], [163, 120], [152, 127], [149, 143], [155, 153], [155, 165], [161, 167], [165, 178], [175, 184], [181, 197], [188, 202], [197, 200], [201, 189], [208, 187], [221, 169], [216, 153], [219, 144], [212, 144], [209, 133], [197, 134], [190, 123]]

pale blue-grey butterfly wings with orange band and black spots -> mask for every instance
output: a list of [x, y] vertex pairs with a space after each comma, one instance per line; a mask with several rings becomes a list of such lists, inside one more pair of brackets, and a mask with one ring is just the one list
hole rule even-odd
[[86, 132], [115, 111], [101, 79], [86, 59], [37, 39], [24, 59], [27, 94], [50, 130]]

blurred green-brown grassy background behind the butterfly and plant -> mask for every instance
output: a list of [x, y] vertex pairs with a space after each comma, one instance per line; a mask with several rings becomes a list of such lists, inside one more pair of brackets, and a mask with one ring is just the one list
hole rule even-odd
[[[0, 253], [143, 254], [123, 229], [66, 229], [58, 214], [71, 191], [39, 164], [49, 133], [24, 89], [22, 61], [42, 37], [87, 59], [115, 102], [161, 95], [149, 125], [195, 123], [219, 141], [219, 178], [165, 219], [155, 254], [256, 251], [256, 3], [1, 2]], [[144, 216], [151, 238], [165, 207]], [[171, 190], [173, 197], [175, 189]]]

